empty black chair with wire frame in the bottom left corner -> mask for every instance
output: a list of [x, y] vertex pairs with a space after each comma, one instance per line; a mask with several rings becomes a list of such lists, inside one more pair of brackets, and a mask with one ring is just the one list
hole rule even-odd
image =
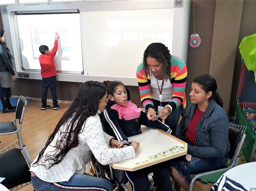
[[31, 183], [28, 161], [30, 157], [20, 145], [20, 140], [16, 140], [0, 150], [0, 177], [5, 178], [1, 184], [11, 191]]

